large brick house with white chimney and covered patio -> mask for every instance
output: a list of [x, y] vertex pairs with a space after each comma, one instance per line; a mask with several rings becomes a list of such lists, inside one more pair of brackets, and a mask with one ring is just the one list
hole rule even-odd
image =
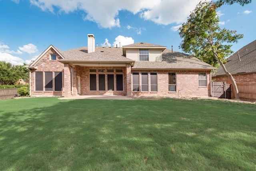
[[139, 42], [62, 52], [50, 45], [32, 64], [30, 95], [209, 97], [215, 68], [166, 46]]

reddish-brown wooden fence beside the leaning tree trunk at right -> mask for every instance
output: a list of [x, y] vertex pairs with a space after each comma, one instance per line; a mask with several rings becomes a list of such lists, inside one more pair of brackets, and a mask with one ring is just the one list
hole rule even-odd
[[[256, 101], [256, 83], [236, 83], [236, 85], [241, 100]], [[232, 98], [234, 97], [235, 94], [234, 91], [232, 91]]]

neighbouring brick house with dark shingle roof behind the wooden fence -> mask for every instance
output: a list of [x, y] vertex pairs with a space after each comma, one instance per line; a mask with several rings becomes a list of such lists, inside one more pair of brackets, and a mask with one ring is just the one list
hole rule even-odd
[[[256, 82], [256, 40], [235, 52], [226, 61], [224, 66], [232, 74], [236, 83]], [[231, 83], [222, 67], [216, 70], [212, 79], [216, 82]]]

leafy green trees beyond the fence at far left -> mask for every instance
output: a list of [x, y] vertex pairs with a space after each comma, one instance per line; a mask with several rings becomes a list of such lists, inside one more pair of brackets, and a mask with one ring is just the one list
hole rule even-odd
[[11, 85], [20, 79], [28, 80], [29, 71], [24, 66], [14, 66], [11, 63], [0, 61], [0, 85]]

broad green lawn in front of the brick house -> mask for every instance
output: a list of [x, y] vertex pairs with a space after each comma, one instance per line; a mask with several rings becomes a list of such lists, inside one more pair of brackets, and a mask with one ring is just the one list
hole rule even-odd
[[0, 170], [254, 171], [255, 121], [230, 101], [1, 100]]

